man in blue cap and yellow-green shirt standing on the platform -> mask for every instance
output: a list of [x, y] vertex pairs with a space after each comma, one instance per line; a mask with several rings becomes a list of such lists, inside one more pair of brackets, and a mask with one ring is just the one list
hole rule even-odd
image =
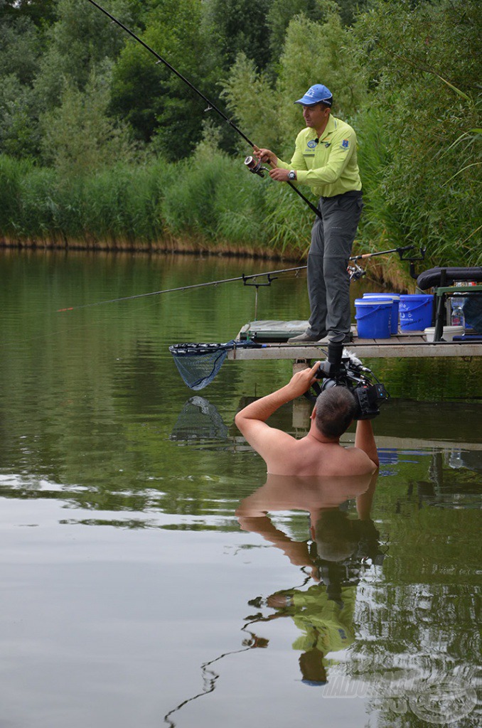
[[308, 256], [309, 328], [288, 341], [348, 343], [350, 333], [349, 256], [363, 208], [357, 139], [349, 124], [331, 115], [333, 96], [322, 84], [295, 103], [303, 107], [306, 129], [299, 132], [291, 162], [270, 149], [254, 147], [269, 162], [277, 182], [308, 184], [320, 199]]

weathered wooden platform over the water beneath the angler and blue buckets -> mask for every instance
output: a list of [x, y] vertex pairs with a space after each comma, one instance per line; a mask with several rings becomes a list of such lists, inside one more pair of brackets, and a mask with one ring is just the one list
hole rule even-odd
[[[428, 344], [422, 332], [403, 333], [390, 339], [357, 339], [347, 344], [347, 349], [358, 357], [390, 359], [406, 357], [480, 357], [482, 341], [438, 341]], [[317, 344], [263, 344], [262, 349], [232, 349], [229, 359], [325, 359], [328, 348]]]

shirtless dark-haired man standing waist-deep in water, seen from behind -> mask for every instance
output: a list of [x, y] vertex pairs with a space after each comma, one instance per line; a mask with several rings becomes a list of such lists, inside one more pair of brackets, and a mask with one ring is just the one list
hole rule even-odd
[[316, 381], [317, 362], [297, 372], [288, 384], [242, 409], [234, 422], [248, 443], [266, 462], [272, 475], [368, 475], [379, 467], [374, 433], [369, 420], [358, 420], [355, 447], [340, 445], [355, 414], [355, 397], [347, 387], [326, 389], [318, 397], [309, 432], [296, 440], [266, 424], [281, 405], [296, 399]]

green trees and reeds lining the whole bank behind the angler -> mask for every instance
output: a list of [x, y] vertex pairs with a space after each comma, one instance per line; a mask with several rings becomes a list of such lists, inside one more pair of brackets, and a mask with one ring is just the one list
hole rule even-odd
[[[481, 264], [475, 0], [104, 4], [284, 159], [293, 99], [325, 83], [357, 130], [357, 250]], [[250, 175], [232, 127], [90, 2], [1, 0], [0, 22], [4, 245], [304, 256], [307, 205]]]

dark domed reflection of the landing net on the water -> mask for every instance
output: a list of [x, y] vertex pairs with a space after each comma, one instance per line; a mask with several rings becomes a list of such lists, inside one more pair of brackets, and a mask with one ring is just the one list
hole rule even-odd
[[228, 428], [214, 405], [203, 397], [191, 397], [183, 406], [170, 440], [225, 440]]

